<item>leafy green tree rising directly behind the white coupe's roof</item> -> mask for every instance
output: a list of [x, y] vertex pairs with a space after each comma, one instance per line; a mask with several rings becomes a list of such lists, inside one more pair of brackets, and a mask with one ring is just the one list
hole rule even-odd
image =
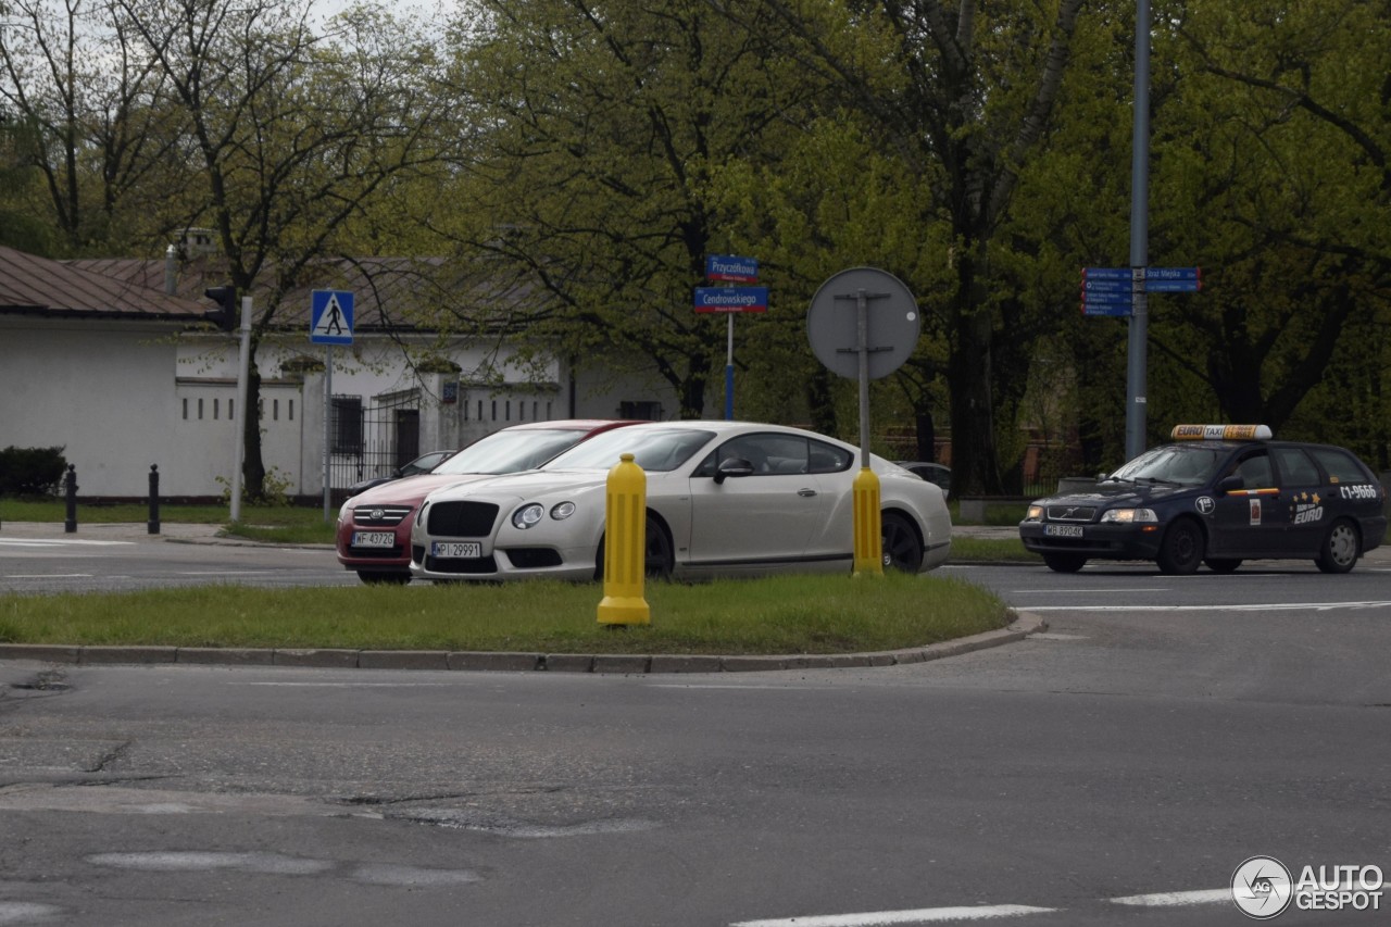
[[705, 0], [479, 6], [458, 93], [480, 132], [440, 227], [530, 299], [470, 319], [481, 309], [581, 365], [655, 365], [679, 415], [698, 418], [726, 327], [693, 309], [705, 256], [729, 241], [712, 177], [775, 159], [807, 96], [769, 50], [778, 29], [739, 28]]

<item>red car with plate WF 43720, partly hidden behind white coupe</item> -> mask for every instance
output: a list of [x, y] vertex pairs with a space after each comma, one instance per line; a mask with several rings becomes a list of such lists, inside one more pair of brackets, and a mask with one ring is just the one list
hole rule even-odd
[[364, 583], [410, 582], [410, 528], [431, 491], [497, 473], [534, 470], [561, 451], [629, 420], [562, 419], [494, 431], [428, 473], [406, 476], [353, 496], [338, 509], [338, 562]]

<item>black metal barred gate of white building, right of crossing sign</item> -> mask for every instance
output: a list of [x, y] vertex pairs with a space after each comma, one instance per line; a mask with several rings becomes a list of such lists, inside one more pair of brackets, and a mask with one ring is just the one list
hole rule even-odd
[[332, 415], [328, 479], [335, 490], [391, 476], [420, 457], [419, 390], [373, 397], [367, 408], [359, 395], [335, 395]]

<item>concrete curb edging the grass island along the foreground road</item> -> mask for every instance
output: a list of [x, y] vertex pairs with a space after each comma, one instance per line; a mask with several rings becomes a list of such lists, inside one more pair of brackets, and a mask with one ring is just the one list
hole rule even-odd
[[771, 670], [846, 670], [893, 667], [1024, 640], [1047, 629], [1038, 615], [1018, 612], [1014, 624], [970, 637], [876, 653], [719, 656], [719, 654], [576, 654], [484, 653], [448, 650], [344, 650], [332, 647], [113, 647], [0, 643], [0, 660], [65, 663], [82, 667], [200, 665], [312, 667], [323, 670], [474, 670], [504, 672], [595, 672], [648, 675], [669, 672], [762, 672]]

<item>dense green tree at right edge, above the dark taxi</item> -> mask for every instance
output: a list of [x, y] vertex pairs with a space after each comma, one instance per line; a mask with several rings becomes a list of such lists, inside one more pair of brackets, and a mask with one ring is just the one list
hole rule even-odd
[[[1189, 3], [1160, 38], [1178, 79], [1156, 109], [1156, 187], [1167, 191], [1156, 244], [1207, 270], [1203, 294], [1153, 315], [1175, 383], [1203, 384], [1228, 420], [1285, 434], [1289, 423], [1383, 465], [1388, 14], [1365, 0]], [[1320, 413], [1301, 412], [1334, 383]]]

